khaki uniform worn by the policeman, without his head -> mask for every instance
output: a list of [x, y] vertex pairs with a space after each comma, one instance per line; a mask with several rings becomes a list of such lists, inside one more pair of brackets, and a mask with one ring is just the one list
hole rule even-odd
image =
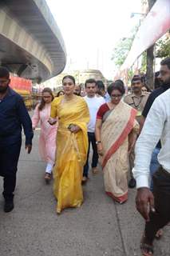
[[[132, 106], [134, 109], [137, 110], [136, 121], [139, 122], [142, 117], [142, 112], [144, 110], [144, 106], [148, 100], [149, 93], [142, 92], [140, 96], [136, 96], [136, 94], [128, 94], [124, 98], [124, 102], [127, 103], [129, 106]], [[132, 168], [134, 167], [134, 160], [135, 160], [135, 152], [132, 150], [131, 154], [129, 155], [129, 168], [130, 174], [132, 178]]]

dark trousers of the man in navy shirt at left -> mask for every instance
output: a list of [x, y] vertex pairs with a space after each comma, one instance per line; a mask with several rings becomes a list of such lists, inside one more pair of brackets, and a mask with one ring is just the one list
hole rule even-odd
[[0, 146], [0, 175], [4, 178], [3, 196], [7, 200], [14, 197], [21, 145], [19, 139], [16, 144]]

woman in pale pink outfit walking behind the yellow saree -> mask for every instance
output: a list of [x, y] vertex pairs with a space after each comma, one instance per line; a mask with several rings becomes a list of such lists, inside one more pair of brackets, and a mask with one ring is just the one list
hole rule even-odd
[[42, 160], [46, 162], [45, 182], [49, 182], [52, 176], [53, 165], [55, 161], [56, 151], [56, 134], [57, 125], [49, 125], [49, 116], [51, 110], [51, 102], [53, 101], [53, 92], [49, 88], [42, 90], [42, 102], [36, 106], [34, 116], [32, 118], [33, 129], [41, 125], [41, 133], [39, 138], [39, 151]]

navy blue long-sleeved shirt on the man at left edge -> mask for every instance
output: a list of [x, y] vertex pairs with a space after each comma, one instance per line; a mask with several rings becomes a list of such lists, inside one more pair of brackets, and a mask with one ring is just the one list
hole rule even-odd
[[26, 105], [22, 97], [9, 87], [6, 96], [0, 101], [0, 146], [21, 140], [22, 127], [26, 145], [32, 144], [34, 133]]

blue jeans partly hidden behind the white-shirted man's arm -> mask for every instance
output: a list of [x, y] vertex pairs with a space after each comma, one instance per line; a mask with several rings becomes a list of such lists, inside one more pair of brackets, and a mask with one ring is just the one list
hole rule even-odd
[[160, 153], [160, 148], [156, 147], [155, 150], [152, 152], [152, 159], [150, 164], [150, 175], [151, 175], [151, 184], [150, 190], [153, 191], [153, 182], [152, 182], [152, 175], [155, 174], [156, 170], [159, 169], [160, 164], [158, 162], [157, 156]]

